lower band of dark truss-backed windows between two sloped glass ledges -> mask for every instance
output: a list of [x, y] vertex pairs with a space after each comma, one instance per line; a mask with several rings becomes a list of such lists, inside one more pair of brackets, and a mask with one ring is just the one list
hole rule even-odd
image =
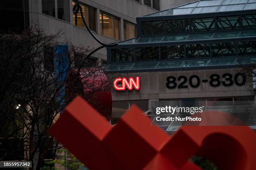
[[256, 41], [111, 49], [111, 62], [255, 55]]

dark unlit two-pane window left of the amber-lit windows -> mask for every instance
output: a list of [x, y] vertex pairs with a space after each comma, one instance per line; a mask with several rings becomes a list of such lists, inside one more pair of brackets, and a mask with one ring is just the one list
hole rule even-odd
[[57, 7], [55, 0], [42, 0], [42, 13], [69, 22], [69, 0], [57, 0]]

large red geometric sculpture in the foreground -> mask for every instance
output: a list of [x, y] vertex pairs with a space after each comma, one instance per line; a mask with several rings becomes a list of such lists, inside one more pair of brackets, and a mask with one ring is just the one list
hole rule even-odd
[[256, 170], [256, 135], [246, 126], [183, 126], [169, 136], [132, 105], [115, 126], [81, 97], [49, 133], [91, 170], [200, 170], [193, 155], [220, 170]]

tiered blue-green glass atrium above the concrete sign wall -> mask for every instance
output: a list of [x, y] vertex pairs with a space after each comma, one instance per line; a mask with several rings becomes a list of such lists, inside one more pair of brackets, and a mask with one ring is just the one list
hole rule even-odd
[[199, 0], [137, 18], [137, 37], [107, 50], [110, 72], [256, 63], [256, 0]]

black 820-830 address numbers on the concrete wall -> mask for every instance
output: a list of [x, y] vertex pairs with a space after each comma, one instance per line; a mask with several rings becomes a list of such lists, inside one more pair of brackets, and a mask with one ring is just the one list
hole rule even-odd
[[[222, 78], [221, 78], [222, 77]], [[200, 77], [198, 75], [192, 75], [189, 78], [186, 76], [179, 76], [178, 82], [176, 77], [169, 76], [166, 78], [166, 87], [169, 89], [174, 89], [178, 86], [178, 88], [187, 88], [187, 80], [189, 81], [189, 85], [193, 88], [199, 87], [201, 84]], [[210, 75], [210, 80], [204, 79], [202, 80], [203, 83], [209, 82], [210, 86], [212, 87], [218, 87], [221, 84], [224, 86], [231, 86], [234, 83], [238, 86], [242, 86], [246, 83], [246, 75], [239, 72], [234, 77], [230, 73], [225, 73], [222, 76], [218, 74], [212, 74]]]

